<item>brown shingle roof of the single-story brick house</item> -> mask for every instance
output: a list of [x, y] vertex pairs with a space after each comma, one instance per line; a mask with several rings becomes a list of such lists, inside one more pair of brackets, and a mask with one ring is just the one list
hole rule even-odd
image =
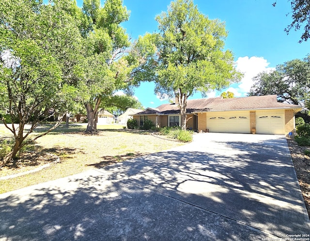
[[[239, 98], [203, 98], [187, 100], [187, 113], [219, 112], [260, 109], [301, 109], [301, 106], [278, 102], [277, 95], [247, 96]], [[156, 109], [147, 108], [138, 115], [147, 114], [176, 114], [180, 113], [177, 104], [163, 104]]]

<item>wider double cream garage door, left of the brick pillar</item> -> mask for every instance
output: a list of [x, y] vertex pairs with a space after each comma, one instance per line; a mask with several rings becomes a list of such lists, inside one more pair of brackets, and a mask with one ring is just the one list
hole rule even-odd
[[209, 112], [207, 129], [210, 132], [250, 133], [249, 112]]

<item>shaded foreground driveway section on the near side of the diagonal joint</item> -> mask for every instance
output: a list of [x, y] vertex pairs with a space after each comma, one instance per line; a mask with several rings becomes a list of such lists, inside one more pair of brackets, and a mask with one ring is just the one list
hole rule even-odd
[[34, 187], [0, 195], [0, 240], [224, 241], [267, 237], [247, 225], [95, 170]]

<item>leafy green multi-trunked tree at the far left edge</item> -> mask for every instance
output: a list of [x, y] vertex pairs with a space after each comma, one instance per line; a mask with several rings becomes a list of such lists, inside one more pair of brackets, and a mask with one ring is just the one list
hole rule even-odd
[[[1, 162], [4, 165], [15, 159], [50, 107], [64, 109], [59, 96], [64, 84], [74, 80], [76, 49], [80, 48], [79, 31], [68, 14], [70, 4], [1, 1], [0, 102], [11, 119], [18, 120], [17, 126], [13, 121], [9, 126], [3, 119], [15, 138], [12, 152]], [[25, 124], [30, 121], [31, 128], [24, 133]]]

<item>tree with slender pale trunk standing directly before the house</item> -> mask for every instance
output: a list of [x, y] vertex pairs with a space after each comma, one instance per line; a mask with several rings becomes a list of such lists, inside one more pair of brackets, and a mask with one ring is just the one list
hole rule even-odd
[[147, 55], [147, 80], [155, 92], [177, 97], [182, 129], [186, 129], [187, 98], [199, 91], [227, 87], [241, 74], [233, 65], [233, 53], [224, 50], [224, 23], [199, 12], [192, 0], [175, 0], [167, 12], [156, 16], [158, 33], [146, 34], [140, 42], [154, 54]]

